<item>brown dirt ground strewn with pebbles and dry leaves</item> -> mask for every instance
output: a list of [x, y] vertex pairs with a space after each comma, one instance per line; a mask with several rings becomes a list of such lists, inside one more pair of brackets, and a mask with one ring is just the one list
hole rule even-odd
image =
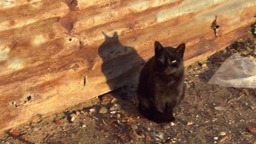
[[252, 38], [236, 41], [186, 67], [186, 96], [175, 110], [176, 122], [156, 124], [140, 116], [133, 83], [35, 117], [0, 135], [0, 143], [256, 143], [255, 89], [207, 84], [235, 52], [255, 58], [255, 43]]

